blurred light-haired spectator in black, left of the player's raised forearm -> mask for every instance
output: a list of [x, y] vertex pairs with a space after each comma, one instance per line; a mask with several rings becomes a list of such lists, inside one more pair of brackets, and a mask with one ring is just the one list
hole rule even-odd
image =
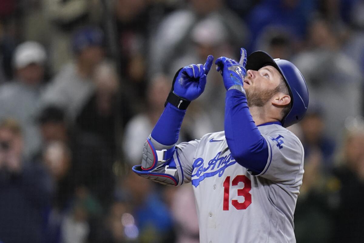
[[95, 92], [77, 117], [76, 124], [83, 131], [102, 137], [115, 154], [120, 130], [130, 119], [131, 105], [125, 98], [125, 92], [120, 91], [120, 81], [113, 63], [100, 63], [93, 80]]

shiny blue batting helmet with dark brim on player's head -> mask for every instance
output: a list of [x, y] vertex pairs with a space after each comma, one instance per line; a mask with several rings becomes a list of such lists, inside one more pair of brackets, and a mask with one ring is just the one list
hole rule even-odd
[[263, 66], [275, 67], [283, 76], [291, 97], [292, 108], [282, 119], [285, 128], [300, 121], [308, 107], [308, 89], [300, 70], [292, 62], [283, 59], [273, 59], [264, 51], [254, 51], [246, 60], [246, 70], [258, 70]]

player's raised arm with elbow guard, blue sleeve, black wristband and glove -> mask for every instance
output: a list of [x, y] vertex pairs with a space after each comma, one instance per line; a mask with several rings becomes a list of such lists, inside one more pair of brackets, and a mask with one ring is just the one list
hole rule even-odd
[[210, 55], [204, 65], [191, 64], [177, 71], [165, 110], [144, 143], [142, 164], [133, 167], [133, 171], [138, 175], [161, 184], [183, 183], [183, 170], [174, 145], [178, 141], [187, 106], [205, 89], [206, 75], [213, 59]]

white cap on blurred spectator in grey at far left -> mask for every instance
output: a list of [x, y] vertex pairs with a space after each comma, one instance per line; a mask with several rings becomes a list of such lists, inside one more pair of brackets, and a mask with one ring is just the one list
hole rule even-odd
[[16, 47], [13, 55], [13, 66], [23, 68], [31, 63], [43, 65], [47, 59], [44, 47], [38, 42], [28, 41]]

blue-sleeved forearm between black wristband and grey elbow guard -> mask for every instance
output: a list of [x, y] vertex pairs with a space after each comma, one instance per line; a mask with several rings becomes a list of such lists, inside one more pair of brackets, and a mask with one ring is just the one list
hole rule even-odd
[[186, 110], [180, 110], [167, 103], [161, 117], [154, 126], [151, 137], [159, 144], [174, 145], [178, 141], [179, 130], [185, 114]]

